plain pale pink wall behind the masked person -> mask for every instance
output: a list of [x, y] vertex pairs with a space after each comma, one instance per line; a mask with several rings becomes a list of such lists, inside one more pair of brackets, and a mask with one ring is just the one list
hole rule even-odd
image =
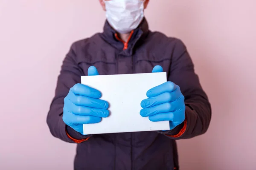
[[[256, 169], [255, 6], [151, 0], [145, 11], [151, 30], [186, 44], [212, 104], [207, 133], [178, 141], [181, 170]], [[97, 0], [0, 0], [0, 169], [72, 169], [76, 145], [52, 137], [46, 116], [71, 43], [104, 21]]]

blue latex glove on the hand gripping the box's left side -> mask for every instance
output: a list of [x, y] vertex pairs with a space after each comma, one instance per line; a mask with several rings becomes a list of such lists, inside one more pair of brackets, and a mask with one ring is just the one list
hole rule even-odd
[[[88, 68], [88, 76], [99, 75], [94, 66]], [[99, 99], [102, 94], [87, 85], [76, 84], [64, 99], [63, 121], [83, 134], [83, 124], [98, 123], [108, 117], [108, 102]]]

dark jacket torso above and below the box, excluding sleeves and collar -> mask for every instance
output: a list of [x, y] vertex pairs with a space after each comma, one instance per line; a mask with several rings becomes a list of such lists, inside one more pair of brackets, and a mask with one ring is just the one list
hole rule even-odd
[[[128, 49], [103, 34], [76, 42], [76, 62], [87, 75], [94, 65], [99, 74], [149, 73], [155, 65], [170, 74], [175, 39], [148, 31], [135, 33]], [[114, 38], [114, 37], [113, 37]], [[97, 134], [78, 144], [76, 170], [174, 170], [178, 168], [174, 140], [157, 132]]]

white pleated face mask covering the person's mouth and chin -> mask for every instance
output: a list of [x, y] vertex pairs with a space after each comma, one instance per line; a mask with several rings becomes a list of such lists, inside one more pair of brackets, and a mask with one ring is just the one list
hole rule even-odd
[[144, 0], [109, 0], [105, 6], [108, 23], [120, 34], [137, 28], [144, 17]]

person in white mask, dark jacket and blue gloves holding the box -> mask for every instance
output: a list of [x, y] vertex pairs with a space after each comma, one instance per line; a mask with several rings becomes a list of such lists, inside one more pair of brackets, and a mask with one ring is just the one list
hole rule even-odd
[[[99, 0], [107, 17], [103, 33], [74, 42], [64, 58], [47, 124], [53, 136], [78, 143], [76, 170], [177, 170], [175, 140], [209, 127], [211, 106], [188, 51], [180, 40], [148, 29], [148, 1]], [[166, 71], [168, 82], [147, 89], [138, 114], [168, 120], [170, 130], [83, 135], [83, 124], [109, 116], [109, 104], [98, 90], [81, 85], [81, 76], [151, 71]]]

